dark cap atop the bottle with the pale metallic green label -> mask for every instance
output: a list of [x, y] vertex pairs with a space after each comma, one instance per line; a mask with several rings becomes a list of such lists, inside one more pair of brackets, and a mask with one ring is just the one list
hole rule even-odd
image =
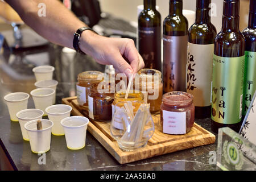
[[224, 0], [223, 15], [224, 16], [239, 16], [240, 0]]

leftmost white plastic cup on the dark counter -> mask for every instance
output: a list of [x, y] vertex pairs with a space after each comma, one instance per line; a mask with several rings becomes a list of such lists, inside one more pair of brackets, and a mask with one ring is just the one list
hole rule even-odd
[[27, 109], [27, 102], [29, 94], [23, 92], [15, 92], [7, 94], [4, 100], [7, 104], [11, 121], [19, 121], [16, 117], [16, 113], [20, 110]]

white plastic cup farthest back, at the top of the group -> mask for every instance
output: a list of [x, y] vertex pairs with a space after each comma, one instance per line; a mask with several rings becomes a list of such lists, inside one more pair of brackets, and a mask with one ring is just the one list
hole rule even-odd
[[32, 69], [35, 74], [36, 81], [52, 80], [54, 67], [49, 65], [39, 66]]

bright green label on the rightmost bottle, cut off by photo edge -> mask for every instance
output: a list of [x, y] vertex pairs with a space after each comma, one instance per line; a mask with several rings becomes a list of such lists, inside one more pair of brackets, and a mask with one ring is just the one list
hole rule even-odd
[[245, 51], [245, 70], [243, 115], [246, 115], [256, 90], [256, 52]]

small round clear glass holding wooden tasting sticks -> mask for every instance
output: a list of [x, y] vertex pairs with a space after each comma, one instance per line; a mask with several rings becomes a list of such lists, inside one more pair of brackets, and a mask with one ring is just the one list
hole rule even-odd
[[[142, 102], [142, 101], [140, 101]], [[131, 106], [115, 109], [110, 126], [112, 137], [117, 140], [119, 148], [123, 151], [133, 151], [146, 146], [155, 131], [154, 121], [150, 114], [150, 105], [139, 105], [134, 116], [129, 117]], [[129, 110], [127, 112], [127, 110]], [[117, 127], [120, 123], [122, 127]]]

